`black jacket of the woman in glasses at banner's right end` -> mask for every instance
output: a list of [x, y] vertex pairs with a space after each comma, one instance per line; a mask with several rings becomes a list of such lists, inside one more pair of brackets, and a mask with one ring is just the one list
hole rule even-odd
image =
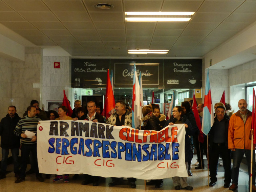
[[[189, 136], [193, 136], [196, 132], [196, 129], [191, 125], [190, 121], [186, 118], [185, 115], [181, 116], [180, 118], [181, 118], [182, 123], [188, 125], [188, 128], [185, 129], [186, 130], [186, 134], [185, 134], [185, 162], [189, 162], [192, 159]], [[172, 115], [171, 118], [166, 121], [166, 124], [165, 124], [164, 127], [167, 127], [169, 125], [169, 123], [175, 123], [176, 121], [177, 121], [177, 119], [175, 119]]]

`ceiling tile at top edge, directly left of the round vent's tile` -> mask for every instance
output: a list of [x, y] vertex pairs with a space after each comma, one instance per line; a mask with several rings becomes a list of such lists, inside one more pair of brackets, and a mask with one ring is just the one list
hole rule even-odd
[[84, 5], [80, 0], [44, 0], [53, 12], [83, 12]]

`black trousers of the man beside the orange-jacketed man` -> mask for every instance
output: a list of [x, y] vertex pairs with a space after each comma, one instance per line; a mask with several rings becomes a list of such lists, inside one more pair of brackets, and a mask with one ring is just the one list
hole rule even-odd
[[217, 169], [217, 164], [219, 160], [219, 155], [222, 156], [222, 162], [223, 162], [223, 167], [224, 167], [224, 182], [229, 184], [231, 183], [231, 151], [228, 149], [228, 147], [225, 146], [224, 144], [216, 144], [213, 143], [213, 146], [211, 146], [211, 153], [209, 153], [209, 157], [211, 161], [209, 161], [209, 169], [210, 169], [210, 177], [212, 182], [217, 181], [216, 177], [216, 169]]

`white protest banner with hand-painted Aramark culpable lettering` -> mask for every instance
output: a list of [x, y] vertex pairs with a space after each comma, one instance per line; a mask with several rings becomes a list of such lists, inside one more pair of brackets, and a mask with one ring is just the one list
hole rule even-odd
[[102, 177], [187, 177], [185, 126], [137, 130], [92, 121], [39, 121], [40, 173], [84, 173]]

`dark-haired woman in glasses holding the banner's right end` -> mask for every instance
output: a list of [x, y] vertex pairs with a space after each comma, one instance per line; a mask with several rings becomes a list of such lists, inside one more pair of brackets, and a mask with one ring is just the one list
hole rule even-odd
[[[190, 140], [189, 136], [193, 136], [195, 130], [193, 129], [191, 123], [184, 115], [183, 108], [180, 106], [176, 106], [173, 108], [172, 116], [169, 120], [166, 121], [165, 127], [168, 125], [174, 124], [185, 124], [185, 163], [188, 171], [188, 162], [191, 161], [191, 149], [190, 149]], [[173, 185], [176, 190], [186, 189], [189, 191], [193, 190], [193, 187], [189, 186], [187, 183], [188, 177], [172, 177]]]

